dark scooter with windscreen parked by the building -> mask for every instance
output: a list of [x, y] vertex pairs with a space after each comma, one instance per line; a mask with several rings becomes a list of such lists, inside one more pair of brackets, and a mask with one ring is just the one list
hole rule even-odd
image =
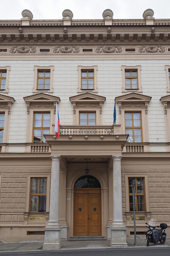
[[159, 226], [155, 226], [155, 222], [155, 219], [151, 219], [149, 224], [146, 222], [146, 227], [148, 228], [148, 231], [146, 232], [147, 246], [149, 243], [157, 244], [159, 241], [161, 244], [164, 244], [166, 241], [165, 229], [168, 225], [166, 223], [161, 223], [161, 229], [158, 229]]

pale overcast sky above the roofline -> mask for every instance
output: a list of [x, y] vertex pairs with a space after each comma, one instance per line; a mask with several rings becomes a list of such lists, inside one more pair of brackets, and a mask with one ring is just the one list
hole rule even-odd
[[20, 20], [28, 9], [33, 20], [62, 20], [62, 12], [69, 9], [73, 20], [103, 19], [106, 9], [113, 11], [113, 19], [143, 19], [146, 9], [154, 11], [156, 19], [170, 19], [170, 0], [0, 0], [0, 20]]

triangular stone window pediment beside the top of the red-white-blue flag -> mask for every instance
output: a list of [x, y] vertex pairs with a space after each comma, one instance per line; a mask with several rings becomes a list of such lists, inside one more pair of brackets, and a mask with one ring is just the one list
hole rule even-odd
[[45, 93], [38, 93], [24, 97], [24, 101], [26, 102], [28, 115], [30, 108], [53, 108], [55, 114], [56, 103], [60, 102], [60, 98]]

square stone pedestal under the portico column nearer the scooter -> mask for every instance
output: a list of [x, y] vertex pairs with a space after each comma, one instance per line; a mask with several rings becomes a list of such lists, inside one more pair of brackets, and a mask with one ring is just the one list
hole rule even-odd
[[110, 227], [110, 247], [127, 247], [126, 243], [126, 230], [127, 228], [115, 226]]

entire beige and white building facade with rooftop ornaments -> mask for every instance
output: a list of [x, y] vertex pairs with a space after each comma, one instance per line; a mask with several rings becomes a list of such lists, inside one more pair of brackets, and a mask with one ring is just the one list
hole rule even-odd
[[133, 189], [138, 236], [170, 225], [170, 20], [153, 15], [0, 21], [2, 242], [127, 246]]

